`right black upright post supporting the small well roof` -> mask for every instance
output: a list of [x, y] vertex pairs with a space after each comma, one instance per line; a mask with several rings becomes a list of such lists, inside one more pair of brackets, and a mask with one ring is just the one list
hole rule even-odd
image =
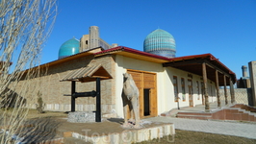
[[95, 121], [101, 122], [101, 104], [100, 104], [100, 78], [96, 78], [96, 113]]

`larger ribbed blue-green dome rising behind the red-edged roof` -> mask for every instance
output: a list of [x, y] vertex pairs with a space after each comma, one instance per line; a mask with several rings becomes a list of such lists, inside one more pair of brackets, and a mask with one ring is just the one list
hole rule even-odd
[[167, 58], [174, 58], [176, 54], [175, 39], [166, 31], [157, 29], [145, 37], [143, 51]]

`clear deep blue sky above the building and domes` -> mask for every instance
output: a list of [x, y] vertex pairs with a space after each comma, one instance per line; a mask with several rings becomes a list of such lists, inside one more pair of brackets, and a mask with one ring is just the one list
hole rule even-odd
[[100, 37], [137, 50], [155, 29], [176, 40], [176, 57], [211, 53], [242, 77], [256, 60], [255, 0], [60, 0], [41, 63], [58, 59], [60, 46], [98, 26]]

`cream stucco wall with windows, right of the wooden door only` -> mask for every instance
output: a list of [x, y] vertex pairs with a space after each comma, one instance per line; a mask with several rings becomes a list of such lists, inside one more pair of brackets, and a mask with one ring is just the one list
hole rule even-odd
[[[178, 81], [178, 96], [179, 107], [189, 107], [189, 88], [188, 88], [188, 79], [192, 80], [192, 98], [193, 98], [193, 107], [196, 105], [202, 104], [202, 93], [201, 93], [201, 76], [192, 74], [192, 78], [188, 77], [188, 74], [191, 74], [187, 71], [179, 70], [172, 67], [165, 67], [163, 72], [158, 73], [158, 113], [161, 114], [166, 112], [172, 108], [177, 108], [177, 102], [174, 100], [174, 87], [173, 87], [173, 76], [177, 77]], [[185, 90], [186, 90], [186, 99], [182, 100], [182, 86], [181, 86], [181, 78], [185, 80]], [[199, 83], [199, 95], [197, 93], [196, 81]], [[210, 91], [210, 87], [212, 87], [212, 93], [209, 93], [209, 102], [216, 101], [216, 86], [215, 83], [208, 80], [208, 89]], [[161, 91], [160, 91], [161, 89]]]

